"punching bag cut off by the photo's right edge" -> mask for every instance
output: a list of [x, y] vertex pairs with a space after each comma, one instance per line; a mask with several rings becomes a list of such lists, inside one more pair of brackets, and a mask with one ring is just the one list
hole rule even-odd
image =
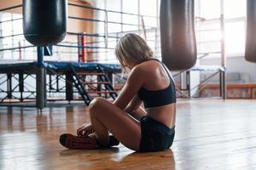
[[247, 0], [247, 40], [245, 58], [256, 63], [256, 1]]

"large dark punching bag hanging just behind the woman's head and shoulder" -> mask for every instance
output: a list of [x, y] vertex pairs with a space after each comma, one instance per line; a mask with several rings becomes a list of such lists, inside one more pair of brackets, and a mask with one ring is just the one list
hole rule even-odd
[[170, 71], [183, 71], [196, 62], [194, 0], [161, 0], [162, 61]]

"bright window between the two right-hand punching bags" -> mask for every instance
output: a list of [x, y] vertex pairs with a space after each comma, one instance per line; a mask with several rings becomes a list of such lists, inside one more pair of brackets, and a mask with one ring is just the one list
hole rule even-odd
[[199, 52], [211, 52], [212, 48], [221, 50], [220, 16], [223, 8], [225, 54], [228, 57], [242, 56], [245, 50], [246, 0], [197, 0], [196, 7], [196, 15], [205, 19], [196, 25]]

